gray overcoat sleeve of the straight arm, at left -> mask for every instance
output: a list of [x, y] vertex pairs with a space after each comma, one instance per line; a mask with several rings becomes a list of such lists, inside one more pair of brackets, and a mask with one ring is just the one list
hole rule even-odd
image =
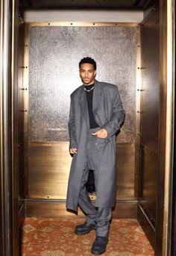
[[70, 109], [69, 109], [69, 149], [77, 148], [76, 143], [76, 134], [75, 134], [75, 113], [74, 113], [74, 106], [72, 102], [72, 97], [70, 101]]

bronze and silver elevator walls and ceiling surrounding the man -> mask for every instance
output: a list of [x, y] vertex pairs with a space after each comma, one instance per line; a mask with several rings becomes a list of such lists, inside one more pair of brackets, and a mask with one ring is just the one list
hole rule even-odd
[[[113, 216], [138, 219], [156, 255], [162, 255], [166, 4], [152, 0], [14, 2], [13, 255], [19, 255], [25, 216], [72, 214], [65, 209], [72, 160], [66, 123], [69, 94], [81, 84], [78, 60], [84, 54], [98, 62], [98, 80], [118, 85], [126, 110], [116, 140]], [[79, 14], [77, 20], [74, 12], [89, 13], [89, 19], [81, 20]], [[125, 18], [119, 18], [118, 12]], [[127, 17], [133, 13], [136, 21]]]

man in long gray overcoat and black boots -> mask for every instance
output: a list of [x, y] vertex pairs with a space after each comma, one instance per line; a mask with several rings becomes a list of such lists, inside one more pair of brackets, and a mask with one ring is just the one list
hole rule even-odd
[[[96, 230], [92, 254], [106, 250], [111, 207], [116, 201], [116, 132], [125, 119], [125, 111], [116, 85], [95, 80], [96, 63], [84, 57], [79, 63], [83, 85], [71, 94], [69, 115], [70, 153], [73, 154], [66, 207], [87, 216], [75, 228], [75, 234]], [[89, 169], [94, 170], [95, 207], [85, 184]]]

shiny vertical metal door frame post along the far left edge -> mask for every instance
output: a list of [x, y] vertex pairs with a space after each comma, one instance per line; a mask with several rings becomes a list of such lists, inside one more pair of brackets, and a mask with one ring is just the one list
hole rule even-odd
[[11, 255], [11, 1], [0, 4], [0, 181], [1, 181], [1, 255]]

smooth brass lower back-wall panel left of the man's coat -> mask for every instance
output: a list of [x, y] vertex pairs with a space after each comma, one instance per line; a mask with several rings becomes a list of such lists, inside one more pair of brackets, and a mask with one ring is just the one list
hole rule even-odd
[[66, 199], [71, 161], [69, 143], [30, 144], [28, 197]]

